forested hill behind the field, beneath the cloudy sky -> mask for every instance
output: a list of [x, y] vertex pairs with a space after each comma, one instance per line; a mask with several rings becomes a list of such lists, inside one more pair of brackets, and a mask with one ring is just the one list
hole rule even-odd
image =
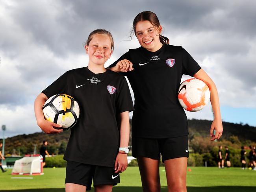
[[[192, 119], [189, 120], [188, 125], [190, 140], [195, 136], [209, 137], [211, 121]], [[236, 136], [242, 143], [250, 143], [250, 141], [256, 142], [256, 127], [252, 127], [247, 124], [243, 125], [223, 122], [223, 129], [222, 139], [231, 141], [234, 137], [230, 136]], [[48, 152], [63, 153], [69, 140], [69, 136], [70, 131], [63, 131], [57, 135], [47, 135], [41, 132], [9, 137], [5, 140], [5, 155], [30, 154], [33, 153], [35, 146], [38, 153], [43, 140], [47, 140], [49, 143]], [[0, 139], [0, 142], [2, 142], [2, 139]]]

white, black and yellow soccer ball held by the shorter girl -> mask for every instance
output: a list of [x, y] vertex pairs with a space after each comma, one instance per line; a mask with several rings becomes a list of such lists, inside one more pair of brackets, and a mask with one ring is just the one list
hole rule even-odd
[[73, 127], [79, 117], [79, 105], [74, 98], [66, 94], [51, 96], [43, 106], [45, 119], [62, 125], [60, 129]]

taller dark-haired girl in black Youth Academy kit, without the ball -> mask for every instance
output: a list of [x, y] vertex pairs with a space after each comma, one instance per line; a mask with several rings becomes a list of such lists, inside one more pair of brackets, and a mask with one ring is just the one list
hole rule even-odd
[[161, 35], [162, 26], [155, 13], [139, 13], [133, 32], [141, 47], [130, 49], [109, 67], [124, 72], [134, 91], [132, 155], [139, 164], [143, 191], [160, 191], [160, 155], [169, 191], [186, 191], [188, 126], [178, 102], [182, 74], [201, 79], [210, 88], [215, 116], [211, 140], [219, 139], [223, 131], [217, 89], [184, 48], [169, 45], [169, 39]]

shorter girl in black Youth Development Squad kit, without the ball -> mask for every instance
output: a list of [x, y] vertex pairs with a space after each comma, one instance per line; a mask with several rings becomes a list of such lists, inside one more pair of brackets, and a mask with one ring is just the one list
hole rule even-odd
[[80, 105], [80, 118], [71, 129], [63, 157], [67, 160], [68, 192], [90, 190], [92, 179], [95, 191], [109, 192], [119, 183], [119, 172], [127, 168], [128, 111], [134, 107], [125, 78], [104, 68], [113, 48], [111, 33], [93, 31], [85, 43], [88, 67], [67, 71], [35, 100], [37, 124], [45, 133], [62, 131], [43, 117], [42, 107], [50, 96], [69, 94]]

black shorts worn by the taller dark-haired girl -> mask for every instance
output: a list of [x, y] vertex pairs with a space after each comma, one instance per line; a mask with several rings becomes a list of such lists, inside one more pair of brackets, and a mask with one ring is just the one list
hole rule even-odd
[[132, 156], [160, 159], [162, 161], [178, 157], [189, 157], [188, 138], [141, 138], [132, 137]]

